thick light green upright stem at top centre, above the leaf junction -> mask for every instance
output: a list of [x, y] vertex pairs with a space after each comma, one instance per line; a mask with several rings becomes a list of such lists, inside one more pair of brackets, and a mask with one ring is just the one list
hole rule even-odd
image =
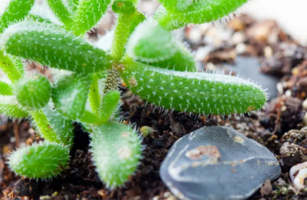
[[140, 12], [118, 15], [113, 44], [111, 47], [111, 56], [115, 61], [119, 61], [123, 57], [129, 35], [144, 19], [145, 16]]

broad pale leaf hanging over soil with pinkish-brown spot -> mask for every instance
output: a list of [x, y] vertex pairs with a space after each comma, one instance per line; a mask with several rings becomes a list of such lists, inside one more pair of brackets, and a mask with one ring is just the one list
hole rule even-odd
[[141, 139], [126, 124], [106, 122], [95, 127], [92, 136], [96, 171], [106, 187], [118, 187], [128, 181], [141, 158]]

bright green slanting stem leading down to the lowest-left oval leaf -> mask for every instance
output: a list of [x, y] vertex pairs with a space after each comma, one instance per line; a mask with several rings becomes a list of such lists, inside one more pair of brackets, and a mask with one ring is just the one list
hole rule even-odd
[[30, 111], [30, 114], [38, 130], [40, 131], [40, 134], [43, 138], [45, 138], [45, 140], [48, 140], [49, 142], [61, 143], [57, 137], [57, 134], [54, 132], [47, 116], [42, 112], [42, 110], [32, 110]]

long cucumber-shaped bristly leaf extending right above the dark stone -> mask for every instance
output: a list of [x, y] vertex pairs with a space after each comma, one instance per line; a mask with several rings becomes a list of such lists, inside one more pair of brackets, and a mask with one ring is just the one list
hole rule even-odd
[[141, 63], [119, 69], [127, 86], [146, 101], [174, 111], [198, 114], [246, 113], [264, 107], [266, 92], [229, 75], [181, 72]]

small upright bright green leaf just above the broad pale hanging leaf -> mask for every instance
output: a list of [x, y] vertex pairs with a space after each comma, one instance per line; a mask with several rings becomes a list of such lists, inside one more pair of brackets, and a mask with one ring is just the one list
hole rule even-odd
[[120, 92], [117, 90], [109, 91], [104, 94], [101, 104], [100, 122], [106, 122], [112, 117], [115, 109], [118, 107]]

